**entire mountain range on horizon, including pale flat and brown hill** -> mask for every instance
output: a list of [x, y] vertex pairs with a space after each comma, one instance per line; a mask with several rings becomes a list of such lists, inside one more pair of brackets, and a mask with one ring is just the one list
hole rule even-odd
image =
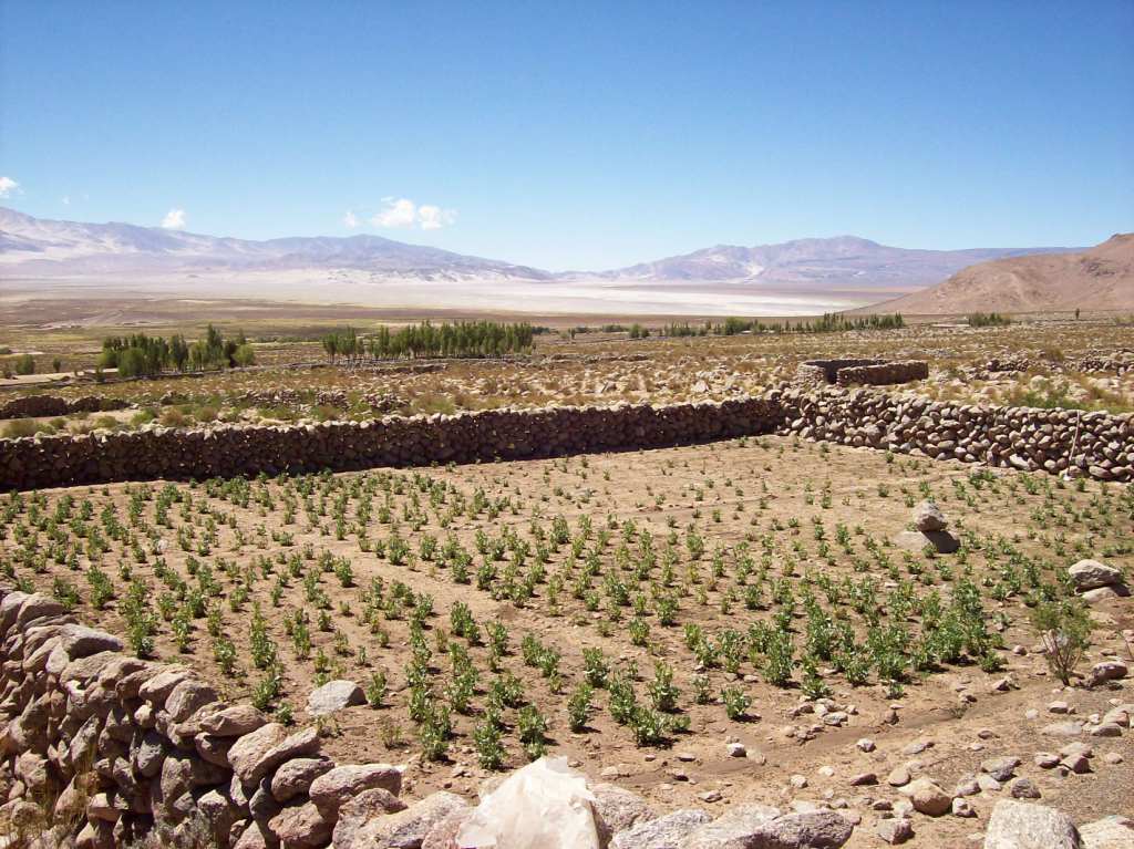
[[1134, 306], [1132, 252], [1131, 235], [1090, 249], [965, 251], [899, 248], [839, 236], [717, 245], [623, 269], [557, 273], [372, 235], [257, 241], [54, 221], [0, 207], [0, 279], [32, 282], [41, 291], [118, 283], [164, 292], [435, 306], [534, 299], [545, 308], [570, 311], [649, 303], [655, 312], [738, 315], [879, 302], [878, 308], [906, 314], [1125, 309]]

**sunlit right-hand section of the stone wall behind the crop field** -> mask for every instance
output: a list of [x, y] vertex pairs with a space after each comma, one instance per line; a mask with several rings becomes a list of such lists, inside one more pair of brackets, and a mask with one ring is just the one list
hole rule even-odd
[[1134, 479], [1134, 415], [931, 401], [869, 390], [772, 393], [806, 439], [1024, 472]]

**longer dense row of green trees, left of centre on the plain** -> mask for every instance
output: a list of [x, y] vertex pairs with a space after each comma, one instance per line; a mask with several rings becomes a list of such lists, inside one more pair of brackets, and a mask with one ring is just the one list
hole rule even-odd
[[416, 359], [420, 357], [498, 357], [532, 350], [535, 329], [524, 323], [493, 321], [381, 326], [365, 337], [354, 328], [327, 333], [320, 340], [331, 363], [339, 359]]

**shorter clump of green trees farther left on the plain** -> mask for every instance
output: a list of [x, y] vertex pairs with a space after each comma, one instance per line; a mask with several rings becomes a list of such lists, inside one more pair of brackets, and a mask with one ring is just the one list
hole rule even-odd
[[254, 365], [255, 362], [255, 351], [243, 330], [235, 338], [226, 339], [210, 324], [204, 337], [193, 342], [179, 333], [169, 339], [145, 333], [107, 337], [102, 340], [96, 367], [117, 368], [120, 377], [137, 377], [169, 370], [202, 372]]

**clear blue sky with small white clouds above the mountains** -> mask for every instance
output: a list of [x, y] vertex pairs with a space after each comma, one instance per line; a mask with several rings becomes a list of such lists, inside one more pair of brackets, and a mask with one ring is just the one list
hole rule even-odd
[[0, 204], [557, 270], [1088, 245], [1134, 229], [1132, 43], [1131, 0], [0, 0]]

